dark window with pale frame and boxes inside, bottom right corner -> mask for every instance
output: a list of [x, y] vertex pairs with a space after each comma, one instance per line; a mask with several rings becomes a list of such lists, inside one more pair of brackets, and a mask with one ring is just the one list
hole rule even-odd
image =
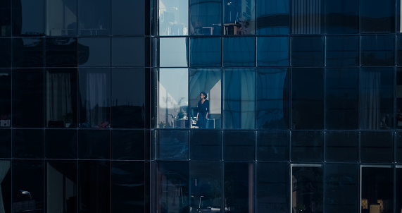
[[[362, 213], [379, 212], [382, 204], [382, 212], [394, 212], [394, 169], [392, 168], [361, 168], [361, 210]], [[396, 211], [398, 212], [398, 211]]]

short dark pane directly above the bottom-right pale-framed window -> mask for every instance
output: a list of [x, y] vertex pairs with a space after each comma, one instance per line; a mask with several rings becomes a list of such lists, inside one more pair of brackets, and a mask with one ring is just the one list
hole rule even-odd
[[394, 162], [394, 137], [389, 132], [361, 132], [362, 162]]

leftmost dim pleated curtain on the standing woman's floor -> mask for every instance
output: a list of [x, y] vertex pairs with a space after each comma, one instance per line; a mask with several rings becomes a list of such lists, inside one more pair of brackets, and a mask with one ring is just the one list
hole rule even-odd
[[48, 72], [46, 78], [46, 123], [65, 121], [73, 113], [70, 73]]

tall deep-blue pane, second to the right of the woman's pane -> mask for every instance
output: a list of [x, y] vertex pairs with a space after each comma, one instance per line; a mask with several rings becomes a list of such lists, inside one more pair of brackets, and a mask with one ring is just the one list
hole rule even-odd
[[258, 129], [289, 128], [289, 71], [287, 68], [257, 70]]

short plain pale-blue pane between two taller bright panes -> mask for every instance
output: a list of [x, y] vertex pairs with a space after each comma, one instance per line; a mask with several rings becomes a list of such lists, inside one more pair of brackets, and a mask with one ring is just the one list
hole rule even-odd
[[187, 66], [187, 39], [185, 37], [159, 39], [159, 66]]

